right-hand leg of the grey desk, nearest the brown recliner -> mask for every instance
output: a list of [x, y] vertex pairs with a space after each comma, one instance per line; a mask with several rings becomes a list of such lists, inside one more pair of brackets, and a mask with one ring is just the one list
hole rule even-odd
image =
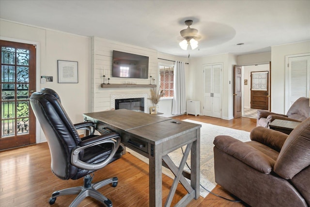
[[200, 196], [200, 128], [196, 129], [197, 140], [191, 147], [191, 179], [190, 185], [195, 190], [195, 199]]

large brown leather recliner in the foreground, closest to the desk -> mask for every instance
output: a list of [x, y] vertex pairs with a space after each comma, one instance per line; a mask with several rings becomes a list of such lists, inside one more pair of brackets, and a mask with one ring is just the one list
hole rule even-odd
[[255, 127], [250, 139], [215, 138], [217, 184], [253, 207], [309, 207], [310, 118], [290, 135]]

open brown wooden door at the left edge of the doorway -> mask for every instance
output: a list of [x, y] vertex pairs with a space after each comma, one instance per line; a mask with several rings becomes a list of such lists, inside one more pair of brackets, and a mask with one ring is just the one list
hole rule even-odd
[[233, 118], [242, 116], [242, 66], [233, 67]]

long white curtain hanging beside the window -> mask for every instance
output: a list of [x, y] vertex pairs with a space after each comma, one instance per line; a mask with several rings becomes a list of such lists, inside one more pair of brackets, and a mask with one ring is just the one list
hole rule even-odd
[[185, 94], [185, 72], [184, 63], [175, 62], [173, 79], [173, 101], [171, 114], [181, 114], [186, 112], [186, 94]]

